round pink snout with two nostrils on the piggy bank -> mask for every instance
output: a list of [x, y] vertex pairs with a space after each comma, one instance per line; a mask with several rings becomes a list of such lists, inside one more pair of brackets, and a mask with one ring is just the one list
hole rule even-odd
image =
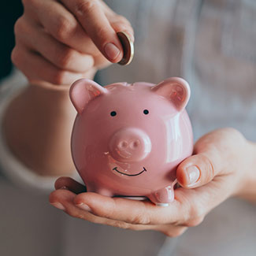
[[109, 153], [117, 161], [141, 161], [150, 150], [150, 137], [138, 128], [123, 128], [109, 140]]

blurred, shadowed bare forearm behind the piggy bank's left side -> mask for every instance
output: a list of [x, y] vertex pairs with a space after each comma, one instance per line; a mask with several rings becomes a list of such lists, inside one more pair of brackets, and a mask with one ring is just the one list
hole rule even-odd
[[13, 154], [40, 175], [72, 172], [69, 140], [75, 111], [69, 87], [29, 85], [9, 105], [4, 119]]

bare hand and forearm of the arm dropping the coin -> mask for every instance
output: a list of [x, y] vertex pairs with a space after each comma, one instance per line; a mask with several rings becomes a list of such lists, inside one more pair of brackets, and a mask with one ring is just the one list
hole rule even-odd
[[[12, 61], [29, 86], [6, 109], [4, 130], [13, 154], [41, 176], [74, 172], [70, 134], [76, 111], [69, 100], [75, 80], [121, 61], [116, 32], [133, 30], [102, 1], [24, 0], [14, 32]], [[106, 54], [113, 43], [117, 54]], [[108, 51], [109, 53], [109, 51]], [[47, 102], [47, 104], [46, 104]]]

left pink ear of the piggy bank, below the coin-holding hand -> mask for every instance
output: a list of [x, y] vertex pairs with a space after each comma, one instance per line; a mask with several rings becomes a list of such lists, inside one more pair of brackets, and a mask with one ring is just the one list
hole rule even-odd
[[69, 97], [76, 111], [82, 113], [88, 102], [106, 93], [107, 90], [98, 83], [87, 79], [80, 79], [72, 83], [69, 90]]

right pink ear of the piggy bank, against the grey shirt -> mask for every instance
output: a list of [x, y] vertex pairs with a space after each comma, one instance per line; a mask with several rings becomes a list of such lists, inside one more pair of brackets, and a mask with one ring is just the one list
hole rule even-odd
[[173, 102], [176, 109], [180, 112], [187, 106], [190, 98], [190, 87], [188, 83], [180, 77], [171, 77], [158, 83], [152, 90]]

